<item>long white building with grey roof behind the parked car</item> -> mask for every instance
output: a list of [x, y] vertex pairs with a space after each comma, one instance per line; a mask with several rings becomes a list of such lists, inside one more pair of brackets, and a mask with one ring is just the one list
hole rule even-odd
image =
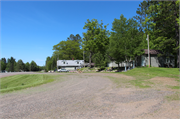
[[67, 70], [76, 70], [84, 66], [84, 60], [58, 60], [57, 67], [65, 68]]

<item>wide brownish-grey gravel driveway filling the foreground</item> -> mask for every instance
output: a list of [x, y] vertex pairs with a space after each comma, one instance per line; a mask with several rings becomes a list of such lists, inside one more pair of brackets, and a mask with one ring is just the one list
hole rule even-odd
[[[120, 87], [106, 76], [62, 74], [54, 81], [0, 96], [1, 119], [179, 119], [179, 101], [167, 101], [170, 90]], [[132, 77], [133, 79], [133, 77]]]

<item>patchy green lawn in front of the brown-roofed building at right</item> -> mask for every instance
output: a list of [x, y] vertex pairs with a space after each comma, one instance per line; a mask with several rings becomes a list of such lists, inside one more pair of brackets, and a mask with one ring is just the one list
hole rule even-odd
[[[143, 68], [134, 68], [127, 72], [118, 72], [118, 73], [134, 77], [135, 80], [130, 80], [128, 81], [128, 83], [137, 86], [139, 88], [150, 88], [151, 85], [153, 85], [153, 82], [149, 81], [148, 79], [154, 77], [175, 78], [176, 81], [180, 82], [180, 78], [179, 78], [180, 72], [178, 68], [143, 67]], [[118, 80], [118, 79], [114, 79], [114, 80]], [[114, 82], [118, 82], [118, 81], [114, 81]], [[179, 89], [179, 86], [172, 88]]]

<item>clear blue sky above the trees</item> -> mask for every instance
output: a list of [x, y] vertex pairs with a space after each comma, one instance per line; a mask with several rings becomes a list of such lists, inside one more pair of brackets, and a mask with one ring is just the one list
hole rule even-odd
[[1, 2], [1, 58], [45, 65], [53, 45], [80, 34], [87, 19], [97, 19], [111, 31], [114, 18], [136, 15], [141, 1], [3, 1]]

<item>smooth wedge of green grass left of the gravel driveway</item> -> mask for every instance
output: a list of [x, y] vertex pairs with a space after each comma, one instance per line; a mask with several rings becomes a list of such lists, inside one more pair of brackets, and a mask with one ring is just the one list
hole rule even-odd
[[11, 92], [54, 81], [56, 76], [46, 74], [24, 74], [0, 79], [0, 92]]

